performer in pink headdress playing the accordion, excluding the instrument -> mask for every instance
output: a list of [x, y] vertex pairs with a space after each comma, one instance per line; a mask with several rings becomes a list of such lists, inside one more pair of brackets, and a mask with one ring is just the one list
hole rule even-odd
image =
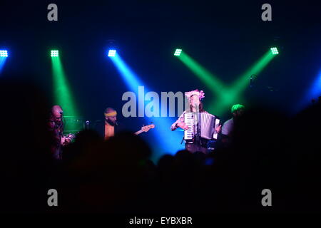
[[[199, 112], [199, 113], [208, 113], [203, 109], [203, 103], [201, 100], [205, 97], [205, 93], [203, 90], [192, 90], [190, 92], [185, 93], [188, 98], [189, 108], [185, 110], [182, 115], [178, 118], [178, 120], [171, 125], [171, 130], [176, 130], [177, 128], [182, 128], [183, 130], [188, 130], [188, 126], [184, 123], [184, 113], [186, 112]], [[215, 129], [216, 133], [220, 133], [220, 125]], [[190, 152], [203, 152], [208, 153], [208, 140], [204, 138], [193, 138], [193, 140], [185, 140], [185, 149]]]

